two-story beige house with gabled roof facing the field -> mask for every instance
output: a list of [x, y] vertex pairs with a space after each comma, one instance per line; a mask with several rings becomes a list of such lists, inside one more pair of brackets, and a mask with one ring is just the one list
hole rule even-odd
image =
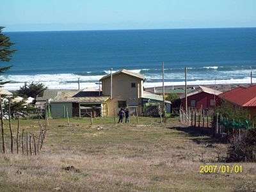
[[[141, 74], [125, 69], [113, 73], [112, 89], [110, 74], [102, 77], [100, 81], [102, 82], [102, 95], [111, 97], [108, 102], [108, 116], [112, 116], [115, 111], [127, 106], [137, 107], [138, 113], [141, 115], [146, 103], [158, 102], [161, 104], [163, 102], [162, 96], [144, 91], [145, 77]], [[166, 104], [170, 105], [170, 102], [166, 101]]]

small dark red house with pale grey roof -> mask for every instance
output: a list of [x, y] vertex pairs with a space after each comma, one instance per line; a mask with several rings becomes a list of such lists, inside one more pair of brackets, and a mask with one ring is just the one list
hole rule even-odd
[[[220, 106], [221, 99], [218, 97], [221, 92], [217, 90], [212, 90], [211, 88], [206, 88], [204, 86], [199, 86], [196, 88], [195, 92], [188, 93], [188, 108], [202, 108], [209, 109], [214, 106]], [[183, 109], [186, 108], [185, 95], [180, 97], [181, 106]], [[215, 100], [215, 102], [214, 102]]]

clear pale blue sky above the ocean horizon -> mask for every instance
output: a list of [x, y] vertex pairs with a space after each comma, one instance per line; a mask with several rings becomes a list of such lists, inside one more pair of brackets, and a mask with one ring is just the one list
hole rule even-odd
[[5, 31], [256, 27], [255, 0], [1, 0]]

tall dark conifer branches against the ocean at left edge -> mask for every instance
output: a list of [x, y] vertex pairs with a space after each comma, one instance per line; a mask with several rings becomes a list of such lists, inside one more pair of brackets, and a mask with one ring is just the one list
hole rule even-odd
[[[0, 61], [2, 62], [8, 62], [12, 58], [13, 52], [16, 50], [11, 49], [11, 46], [13, 43], [10, 40], [10, 37], [3, 34], [3, 28], [0, 26]], [[6, 70], [9, 70], [11, 66], [3, 67], [0, 66], [0, 74], [3, 74], [6, 72]], [[3, 79], [0, 79], [0, 85], [8, 83], [9, 81], [3, 81]]]

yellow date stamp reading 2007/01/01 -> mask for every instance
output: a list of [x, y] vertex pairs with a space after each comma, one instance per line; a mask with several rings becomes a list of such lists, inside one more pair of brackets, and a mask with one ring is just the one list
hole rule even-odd
[[199, 173], [242, 173], [243, 166], [239, 164], [234, 165], [217, 165], [217, 164], [201, 164]]

